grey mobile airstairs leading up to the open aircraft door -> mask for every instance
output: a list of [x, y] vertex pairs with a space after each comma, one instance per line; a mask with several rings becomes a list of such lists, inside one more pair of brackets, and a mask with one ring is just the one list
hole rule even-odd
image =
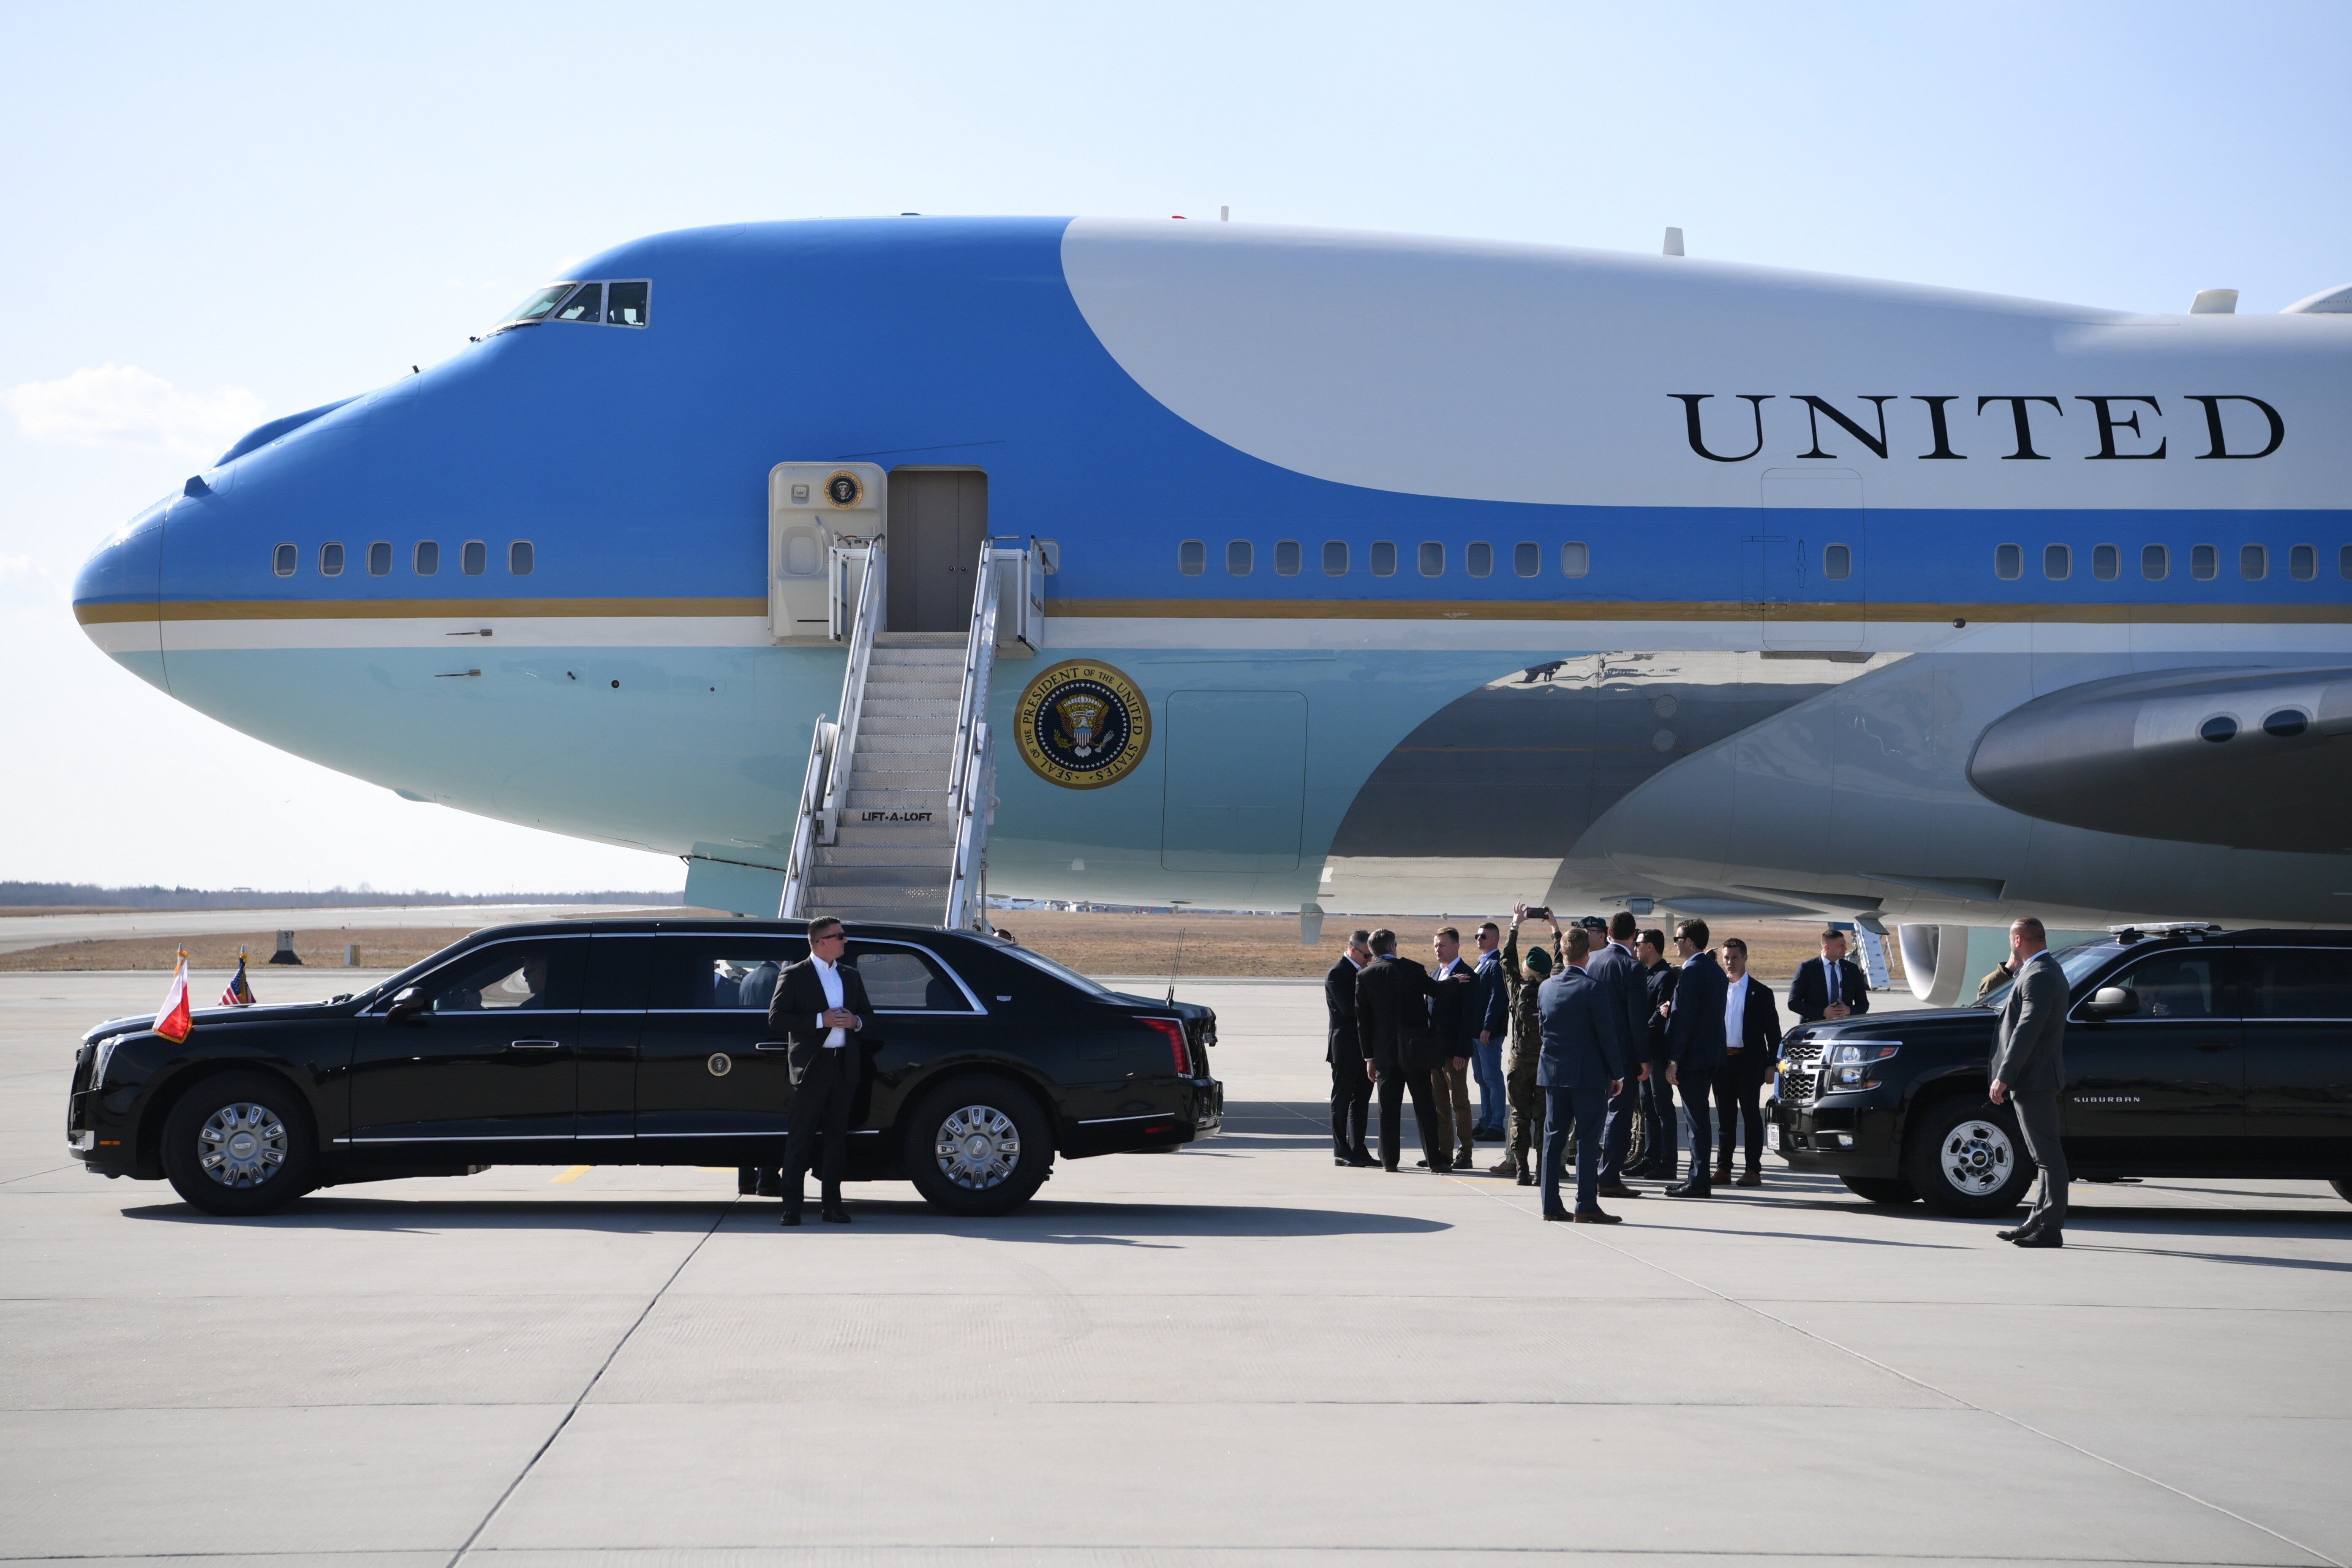
[[833, 550], [849, 665], [837, 717], [809, 743], [779, 914], [988, 929], [988, 689], [1000, 632], [1002, 651], [1035, 651], [1037, 548], [981, 543], [964, 635], [882, 630], [884, 548], [877, 536]]

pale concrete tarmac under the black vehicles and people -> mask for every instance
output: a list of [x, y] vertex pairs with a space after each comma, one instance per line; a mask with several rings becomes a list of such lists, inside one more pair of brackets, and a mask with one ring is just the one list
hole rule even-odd
[[783, 1232], [626, 1166], [212, 1220], [64, 1152], [158, 976], [0, 976], [0, 1559], [2352, 1561], [2321, 1182], [2079, 1185], [2056, 1253], [1776, 1161], [1543, 1225], [1331, 1166], [1312, 983], [1181, 992], [1223, 1138]]

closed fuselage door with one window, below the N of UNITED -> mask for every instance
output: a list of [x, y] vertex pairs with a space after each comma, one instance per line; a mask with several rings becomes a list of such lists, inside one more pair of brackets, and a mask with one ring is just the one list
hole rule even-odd
[[1863, 646], [1863, 477], [1849, 468], [1769, 468], [1757, 531], [1740, 541], [1740, 599], [1764, 649]]

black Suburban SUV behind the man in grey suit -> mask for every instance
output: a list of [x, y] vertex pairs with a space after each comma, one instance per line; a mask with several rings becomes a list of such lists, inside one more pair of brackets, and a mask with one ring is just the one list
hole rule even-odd
[[[2352, 933], [2117, 929], [2058, 964], [2077, 1180], [2307, 1175], [2352, 1199]], [[1792, 1030], [1773, 1103], [1783, 1159], [1872, 1204], [2016, 1208], [2034, 1164], [1985, 1095], [2006, 999], [2004, 985], [1978, 1006]]]

